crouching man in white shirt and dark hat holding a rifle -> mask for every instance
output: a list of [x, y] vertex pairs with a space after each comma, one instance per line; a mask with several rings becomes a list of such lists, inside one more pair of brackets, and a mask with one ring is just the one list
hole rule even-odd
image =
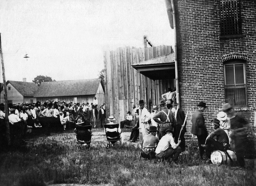
[[174, 131], [172, 129], [167, 129], [165, 131], [166, 135], [163, 136], [158, 145], [155, 149], [155, 155], [158, 158], [165, 158], [168, 159], [169, 157], [172, 157], [172, 162], [174, 166], [178, 166], [176, 163], [178, 160], [178, 157], [181, 153], [181, 148], [179, 147], [181, 141], [178, 139], [178, 143], [175, 144], [174, 142]]

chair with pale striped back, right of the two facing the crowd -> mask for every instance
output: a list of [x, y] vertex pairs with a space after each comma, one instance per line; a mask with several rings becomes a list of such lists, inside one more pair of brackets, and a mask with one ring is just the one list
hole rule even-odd
[[120, 141], [121, 145], [121, 133], [118, 132], [119, 124], [104, 124], [105, 133], [107, 137], [107, 148], [110, 145], [115, 145], [117, 141]]

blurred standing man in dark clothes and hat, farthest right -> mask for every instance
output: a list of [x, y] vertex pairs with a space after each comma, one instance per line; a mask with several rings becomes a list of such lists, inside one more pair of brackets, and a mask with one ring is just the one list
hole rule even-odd
[[222, 111], [225, 112], [227, 117], [230, 119], [230, 130], [232, 131], [230, 137], [232, 144], [235, 143], [237, 162], [239, 166], [244, 167], [245, 142], [247, 140], [245, 126], [247, 125], [247, 122], [244, 118], [234, 113], [233, 107], [229, 103], [226, 103], [222, 106]]

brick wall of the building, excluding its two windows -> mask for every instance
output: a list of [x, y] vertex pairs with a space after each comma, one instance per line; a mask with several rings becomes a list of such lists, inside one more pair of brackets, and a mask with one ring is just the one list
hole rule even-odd
[[[177, 19], [177, 53], [181, 108], [191, 115], [200, 101], [207, 129], [210, 120], [225, 103], [222, 57], [232, 52], [247, 54], [248, 109], [238, 111], [248, 123], [254, 123], [256, 111], [256, 1], [241, 0], [242, 34], [245, 37], [220, 39], [219, 0], [174, 0]], [[255, 128], [254, 128], [255, 129]]]

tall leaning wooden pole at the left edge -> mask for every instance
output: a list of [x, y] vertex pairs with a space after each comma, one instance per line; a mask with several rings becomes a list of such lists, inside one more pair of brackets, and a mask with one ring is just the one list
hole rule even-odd
[[2, 50], [2, 40], [1, 40], [1, 33], [0, 33], [0, 53], [1, 53], [1, 61], [2, 61], [2, 70], [3, 70], [3, 96], [5, 100], [5, 126], [6, 126], [6, 138], [8, 146], [11, 145], [11, 138], [10, 138], [10, 126], [9, 126], [9, 109], [8, 109], [8, 102], [7, 102], [7, 91], [6, 91], [6, 82], [5, 82], [5, 66], [3, 63], [3, 50]]

